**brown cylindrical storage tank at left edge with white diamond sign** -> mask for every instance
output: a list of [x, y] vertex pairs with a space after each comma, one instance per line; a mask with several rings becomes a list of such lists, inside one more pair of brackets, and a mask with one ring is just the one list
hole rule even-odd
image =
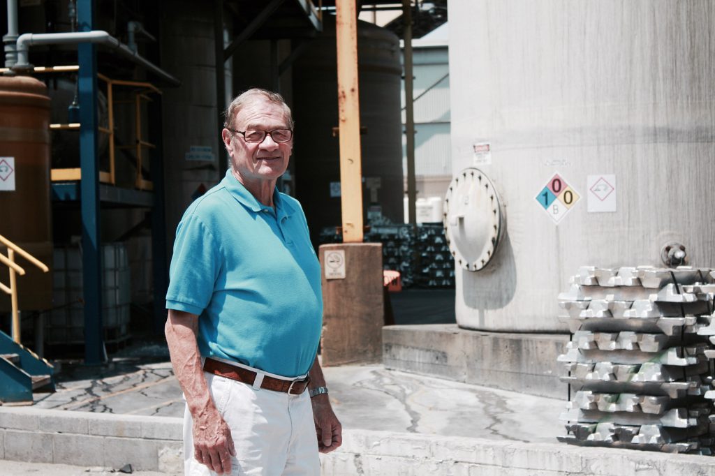
[[[0, 76], [0, 234], [51, 267], [49, 97], [37, 79]], [[0, 253], [7, 249], [0, 245]], [[26, 271], [17, 277], [21, 311], [49, 309], [51, 272], [43, 273], [15, 254]], [[9, 284], [0, 265], [0, 282]], [[10, 297], [0, 292], [0, 312]]]

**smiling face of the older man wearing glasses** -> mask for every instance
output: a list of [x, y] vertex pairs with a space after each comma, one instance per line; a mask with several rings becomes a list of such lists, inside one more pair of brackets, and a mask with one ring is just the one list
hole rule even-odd
[[[257, 98], [236, 114], [234, 128], [237, 131], [288, 129], [288, 121], [283, 109], [266, 99]], [[288, 142], [275, 142], [266, 134], [262, 142], [246, 142], [242, 134], [224, 129], [222, 137], [231, 156], [234, 174], [244, 184], [276, 180], [288, 167], [288, 159], [293, 147]]]

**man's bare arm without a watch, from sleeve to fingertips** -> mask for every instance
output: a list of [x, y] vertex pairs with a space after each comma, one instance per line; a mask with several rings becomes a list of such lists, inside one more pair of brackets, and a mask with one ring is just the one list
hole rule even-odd
[[169, 309], [164, 333], [174, 375], [179, 380], [192, 415], [194, 456], [212, 471], [230, 473], [230, 456], [235, 456], [236, 451], [231, 431], [209, 393], [196, 340], [198, 330], [199, 317], [196, 314]]

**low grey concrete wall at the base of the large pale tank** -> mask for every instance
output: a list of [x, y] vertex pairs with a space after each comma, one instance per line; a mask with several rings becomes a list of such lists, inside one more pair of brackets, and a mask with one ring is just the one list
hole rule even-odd
[[557, 358], [567, 334], [511, 334], [460, 329], [457, 324], [383, 327], [388, 369], [568, 399]]

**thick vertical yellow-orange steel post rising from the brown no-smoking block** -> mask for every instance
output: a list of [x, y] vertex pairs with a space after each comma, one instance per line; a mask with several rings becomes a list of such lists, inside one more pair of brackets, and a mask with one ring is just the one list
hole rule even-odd
[[363, 174], [358, 94], [358, 11], [355, 0], [335, 1], [337, 110], [340, 127], [342, 241], [363, 242]]

